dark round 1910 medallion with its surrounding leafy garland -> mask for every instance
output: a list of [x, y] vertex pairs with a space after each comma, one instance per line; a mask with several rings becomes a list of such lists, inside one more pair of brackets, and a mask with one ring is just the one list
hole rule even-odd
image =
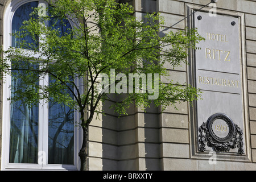
[[230, 148], [238, 148], [243, 152], [243, 132], [232, 119], [224, 113], [216, 113], [209, 117], [207, 123], [199, 127], [199, 150], [205, 151], [205, 143], [216, 151], [228, 152]]

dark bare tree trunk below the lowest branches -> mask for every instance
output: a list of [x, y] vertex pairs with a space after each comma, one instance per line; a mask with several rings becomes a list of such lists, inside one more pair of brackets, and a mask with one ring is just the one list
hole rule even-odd
[[88, 125], [82, 126], [82, 147], [79, 152], [80, 162], [81, 162], [81, 171], [88, 171], [87, 166], [87, 139], [88, 139]]

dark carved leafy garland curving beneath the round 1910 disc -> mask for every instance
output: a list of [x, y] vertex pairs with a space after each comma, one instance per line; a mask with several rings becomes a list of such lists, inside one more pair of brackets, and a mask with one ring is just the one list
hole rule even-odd
[[229, 140], [228, 142], [217, 142], [209, 133], [207, 129], [207, 124], [204, 122], [203, 125], [199, 127], [199, 150], [201, 152], [205, 151], [205, 143], [207, 143], [208, 147], [213, 147], [214, 150], [216, 151], [221, 151], [221, 152], [228, 152], [230, 148], [238, 148], [238, 153], [239, 154], [244, 154], [243, 151], [243, 131], [238, 127], [236, 124], [235, 126], [235, 131], [233, 138]]

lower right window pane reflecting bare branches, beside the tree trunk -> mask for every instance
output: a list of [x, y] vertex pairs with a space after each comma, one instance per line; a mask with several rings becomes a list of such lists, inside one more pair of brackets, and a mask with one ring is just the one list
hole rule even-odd
[[[50, 78], [49, 84], [54, 81]], [[53, 101], [48, 107], [48, 164], [73, 164], [74, 109]]]

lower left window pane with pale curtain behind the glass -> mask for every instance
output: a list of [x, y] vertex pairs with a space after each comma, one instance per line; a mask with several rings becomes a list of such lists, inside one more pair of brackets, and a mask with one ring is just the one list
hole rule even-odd
[[[20, 78], [11, 78], [11, 97], [18, 96], [15, 92], [24, 88], [21, 84]], [[10, 118], [9, 162], [38, 163], [38, 104], [29, 108], [24, 101], [11, 102]]]

